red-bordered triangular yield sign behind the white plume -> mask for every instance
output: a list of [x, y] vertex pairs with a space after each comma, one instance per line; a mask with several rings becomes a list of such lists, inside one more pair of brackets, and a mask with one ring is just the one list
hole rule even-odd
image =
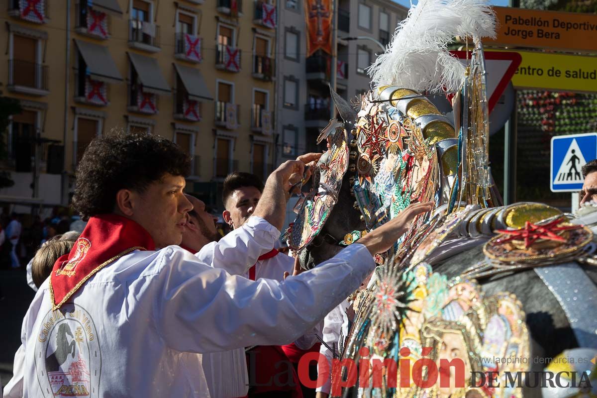
[[[450, 51], [452, 55], [460, 59], [460, 62], [467, 64], [470, 60], [470, 51], [467, 57], [466, 51]], [[496, 106], [501, 94], [508, 85], [516, 68], [520, 65], [521, 55], [509, 51], [485, 51], [485, 73], [487, 73], [487, 97], [489, 98], [489, 112]]]

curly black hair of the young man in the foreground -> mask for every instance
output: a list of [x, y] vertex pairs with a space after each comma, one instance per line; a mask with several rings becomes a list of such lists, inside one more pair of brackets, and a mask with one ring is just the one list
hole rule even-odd
[[76, 168], [73, 206], [83, 220], [111, 213], [121, 189], [143, 192], [165, 174], [187, 177], [190, 157], [159, 135], [118, 131], [95, 138]]

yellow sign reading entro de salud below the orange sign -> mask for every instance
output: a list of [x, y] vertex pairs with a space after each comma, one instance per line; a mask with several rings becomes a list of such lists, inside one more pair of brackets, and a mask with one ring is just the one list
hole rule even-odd
[[597, 92], [597, 57], [531, 51], [516, 53], [521, 54], [522, 63], [512, 76], [515, 88]]

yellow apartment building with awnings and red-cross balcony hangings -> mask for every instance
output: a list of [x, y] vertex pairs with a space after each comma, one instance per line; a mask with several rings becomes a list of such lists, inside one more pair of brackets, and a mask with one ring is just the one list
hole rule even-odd
[[23, 112], [2, 161], [15, 184], [0, 195], [66, 205], [85, 147], [112, 129], [176, 141], [193, 159], [187, 190], [214, 206], [230, 171], [265, 177], [277, 11], [270, 0], [8, 0], [1, 90]]

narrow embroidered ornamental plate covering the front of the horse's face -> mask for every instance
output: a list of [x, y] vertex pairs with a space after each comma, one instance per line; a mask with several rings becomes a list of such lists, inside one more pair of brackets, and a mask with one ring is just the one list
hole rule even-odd
[[343, 125], [336, 119], [330, 121], [319, 135], [318, 143], [323, 140], [327, 141], [328, 150], [318, 162], [313, 190], [302, 200], [297, 218], [286, 233], [293, 251], [304, 248], [321, 232], [338, 201], [342, 178], [348, 167], [347, 133]]

